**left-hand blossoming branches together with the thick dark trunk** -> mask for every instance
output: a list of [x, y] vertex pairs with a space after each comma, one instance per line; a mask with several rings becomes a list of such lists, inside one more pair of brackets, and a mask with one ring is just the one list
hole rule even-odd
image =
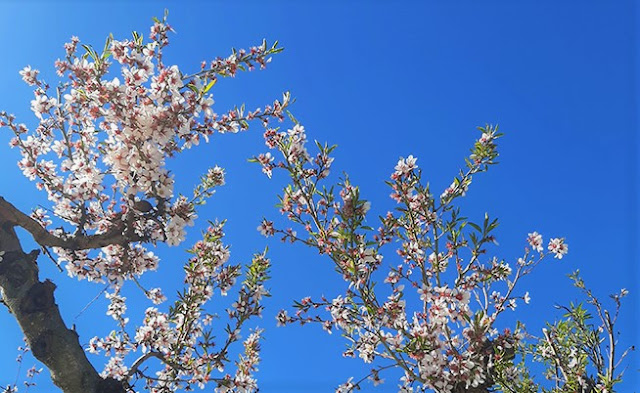
[[[214, 380], [220, 391], [255, 390], [252, 372], [260, 331], [245, 336], [235, 376], [223, 371], [242, 325], [262, 310], [269, 260], [259, 253], [248, 265], [238, 299], [228, 312], [226, 334], [216, 334], [220, 340], [214, 348], [212, 315], [203, 312], [203, 305], [216, 291], [226, 294], [242, 270], [228, 262], [224, 223], [212, 223], [191, 248], [192, 257], [184, 266], [185, 288], [168, 311], [148, 308], [135, 329], [124, 316], [124, 282], [137, 283], [139, 276], [158, 266], [159, 258], [145, 245], [180, 244], [185, 227], [196, 218], [195, 206], [224, 184], [224, 170], [215, 166], [192, 196], [175, 195], [166, 160], [207, 141], [214, 132], [245, 130], [251, 120], [281, 120], [289, 104], [285, 94], [282, 101], [262, 109], [245, 111], [242, 106], [216, 113], [211, 89], [218, 78], [264, 68], [281, 49], [277, 43], [262, 42], [249, 50], [233, 50], [226, 58], [203, 61], [188, 74], [163, 60], [171, 31], [165, 15], [154, 19], [148, 40], [137, 33], [126, 40], [109, 37], [97, 51], [73, 37], [65, 45], [64, 58], [55, 63], [62, 78], [59, 84], [49, 85], [29, 66], [20, 72], [34, 87], [31, 109], [38, 125], [30, 130], [13, 115], [0, 114], [0, 125], [14, 134], [11, 146], [22, 154], [19, 168], [52, 204], [51, 209], [38, 208], [27, 215], [0, 198], [3, 299], [34, 355], [64, 391], [175, 391]], [[77, 334], [62, 321], [54, 303], [55, 285], [39, 281], [38, 252], [22, 251], [15, 226], [29, 231], [47, 253], [51, 248], [70, 276], [109, 284], [107, 314], [118, 328], [107, 337], [93, 338], [88, 348], [110, 356], [100, 375], [88, 362]], [[142, 290], [153, 303], [166, 300], [160, 288]], [[137, 359], [127, 358], [134, 352], [139, 352]], [[150, 358], [162, 364], [152, 375], [142, 368]]]

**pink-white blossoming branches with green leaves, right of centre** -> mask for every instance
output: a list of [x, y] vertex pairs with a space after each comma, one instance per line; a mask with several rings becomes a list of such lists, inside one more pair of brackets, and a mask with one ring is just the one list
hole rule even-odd
[[[318, 154], [312, 158], [300, 124], [287, 132], [267, 126], [265, 143], [279, 151], [282, 160], [263, 153], [253, 161], [269, 177], [276, 168], [288, 173], [291, 184], [280, 196], [280, 211], [304, 228], [305, 235], [293, 228], [276, 229], [267, 219], [258, 230], [316, 248], [333, 261], [347, 284], [334, 299], [296, 301], [295, 314], [282, 310], [278, 324], [318, 323], [328, 333], [341, 331], [349, 342], [344, 356], [372, 363], [368, 379], [374, 385], [383, 382], [384, 370], [402, 370], [401, 392], [531, 388], [514, 362], [515, 351], [524, 345], [524, 329], [499, 332], [495, 323], [505, 310], [515, 310], [518, 300], [529, 302], [529, 293], [518, 293], [516, 284], [548, 254], [542, 236], [530, 233], [514, 270], [504, 260], [485, 256], [487, 246], [496, 243], [497, 220], [485, 216], [478, 225], [461, 216], [456, 199], [498, 156], [497, 127], [480, 131], [467, 170], [439, 197], [422, 182], [417, 159], [400, 158], [388, 182], [399, 207], [381, 217], [381, 226], [371, 235], [373, 228], [365, 225], [371, 205], [361, 199], [358, 187], [348, 178], [339, 191], [322, 185], [334, 147], [317, 144]], [[380, 275], [382, 249], [394, 241], [400, 263]], [[568, 252], [561, 238], [551, 239], [547, 249], [558, 259]], [[381, 279], [386, 287], [377, 285]], [[360, 389], [365, 379], [350, 379], [337, 392]]]

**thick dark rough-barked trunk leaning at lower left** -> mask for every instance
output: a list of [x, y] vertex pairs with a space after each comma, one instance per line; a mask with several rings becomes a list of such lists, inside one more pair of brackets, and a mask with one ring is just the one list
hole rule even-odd
[[[15, 217], [17, 219], [12, 219]], [[121, 382], [100, 377], [87, 359], [78, 334], [65, 325], [55, 303], [55, 284], [49, 280], [41, 282], [38, 278], [36, 259], [39, 251], [26, 254], [22, 250], [14, 230], [20, 220], [27, 223], [25, 229], [34, 237], [36, 233], [46, 232], [39, 225], [39, 230], [29, 228], [31, 218], [0, 197], [0, 251], [4, 251], [0, 262], [0, 290], [33, 355], [44, 363], [51, 372], [53, 383], [64, 392], [124, 393], [126, 390]], [[33, 223], [37, 225], [35, 221]], [[37, 237], [36, 241], [40, 243]]]

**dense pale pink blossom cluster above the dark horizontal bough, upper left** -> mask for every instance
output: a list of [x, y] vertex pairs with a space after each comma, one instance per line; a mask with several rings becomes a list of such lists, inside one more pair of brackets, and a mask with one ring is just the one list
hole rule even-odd
[[[224, 184], [222, 168], [215, 167], [193, 201], [176, 199], [167, 159], [214, 132], [245, 130], [254, 119], [265, 124], [283, 119], [288, 94], [264, 109], [246, 112], [240, 107], [224, 114], [214, 111], [211, 94], [221, 77], [264, 68], [281, 50], [277, 43], [234, 50], [187, 75], [163, 62], [171, 31], [166, 20], [156, 20], [150, 41], [136, 33], [132, 39], [109, 38], [102, 52], [80, 45], [74, 37], [65, 45], [64, 59], [55, 63], [64, 77], [57, 87], [41, 80], [30, 66], [20, 72], [35, 88], [31, 109], [39, 120], [37, 127], [29, 131], [14, 116], [0, 114], [0, 126], [15, 135], [11, 146], [22, 153], [18, 166], [47, 192], [55, 216], [73, 228], [60, 227], [55, 235], [100, 235], [117, 244], [98, 256], [56, 249], [72, 276], [117, 282], [144, 272], [136, 262], [146, 250], [131, 244], [180, 244], [185, 226], [195, 217], [192, 205]], [[116, 70], [119, 75], [110, 75]]]

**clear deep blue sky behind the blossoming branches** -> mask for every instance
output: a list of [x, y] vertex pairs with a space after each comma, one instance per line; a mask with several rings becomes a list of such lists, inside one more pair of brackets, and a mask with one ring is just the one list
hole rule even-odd
[[[500, 218], [496, 253], [514, 260], [528, 232], [566, 237], [569, 255], [549, 260], [523, 281], [532, 302], [517, 310], [532, 333], [559, 316], [554, 304], [579, 298], [567, 274], [580, 269], [605, 297], [625, 287], [631, 295], [618, 325], [620, 346], [638, 344], [638, 12], [631, 1], [394, 2], [5, 2], [0, 6], [0, 109], [35, 123], [31, 91], [18, 75], [25, 65], [55, 80], [53, 61], [77, 35], [101, 47], [112, 32], [126, 38], [148, 33], [150, 18], [169, 9], [176, 29], [167, 61], [183, 71], [200, 61], [248, 47], [262, 38], [285, 51], [266, 71], [240, 74], [216, 85], [217, 110], [235, 104], [264, 106], [290, 90], [292, 111], [309, 138], [337, 144], [334, 170], [346, 171], [372, 201], [374, 213], [393, 204], [384, 180], [399, 156], [413, 154], [433, 190], [451, 182], [476, 137], [475, 127], [500, 124], [500, 165], [478, 176], [463, 202], [465, 213]], [[267, 241], [255, 230], [264, 215], [277, 218], [282, 177], [269, 181], [246, 159], [264, 151], [256, 124], [240, 135], [216, 136], [172, 163], [177, 187], [189, 191], [207, 166], [227, 169], [227, 185], [199, 213], [185, 246], [207, 218], [227, 218], [227, 241], [236, 261], [269, 245], [271, 288], [260, 321], [267, 328], [259, 381], [264, 392], [327, 392], [368, 371], [343, 359], [345, 342], [317, 327], [276, 328], [273, 315], [293, 299], [338, 294], [342, 282], [329, 260], [301, 246]], [[15, 166], [8, 132], [0, 133], [0, 195], [28, 211], [46, 197]], [[198, 168], [197, 170], [195, 168]], [[376, 226], [376, 222], [371, 223]], [[32, 246], [25, 238], [27, 247]], [[171, 281], [185, 254], [170, 250], [151, 285]], [[389, 253], [391, 254], [391, 253]], [[76, 283], [40, 263], [59, 285], [58, 303], [81, 342], [113, 328], [102, 289]], [[135, 291], [132, 291], [132, 293]], [[140, 303], [144, 304], [144, 303]], [[219, 309], [220, 311], [222, 308]], [[135, 315], [135, 314], [133, 314]], [[132, 317], [132, 320], [135, 320]], [[73, 321], [73, 322], [72, 322]], [[20, 333], [0, 314], [0, 366], [13, 370]], [[84, 339], [84, 341], [82, 341]], [[632, 354], [620, 391], [637, 386]], [[28, 364], [27, 364], [28, 365]], [[12, 382], [3, 372], [0, 384]], [[395, 391], [395, 383], [378, 388]], [[34, 392], [52, 391], [48, 376]], [[370, 385], [369, 385], [370, 386]], [[372, 389], [368, 387], [367, 390]]]

